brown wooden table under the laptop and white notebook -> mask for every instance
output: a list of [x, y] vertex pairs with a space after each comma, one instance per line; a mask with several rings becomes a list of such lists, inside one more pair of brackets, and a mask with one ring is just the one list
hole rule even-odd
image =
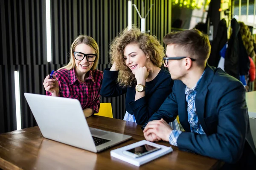
[[[110, 156], [118, 147], [144, 140], [141, 126], [101, 116], [87, 118], [90, 127], [131, 135], [132, 139], [100, 153], [92, 153], [66, 144], [45, 139], [38, 127], [0, 134], [0, 168], [3, 170], [209, 170], [223, 162], [205, 156], [180, 151], [173, 152], [148, 164], [136, 167]], [[157, 142], [170, 146], [168, 142]]]

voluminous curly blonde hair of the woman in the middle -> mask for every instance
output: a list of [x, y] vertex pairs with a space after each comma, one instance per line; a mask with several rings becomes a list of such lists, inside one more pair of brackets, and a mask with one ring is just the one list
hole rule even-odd
[[148, 64], [161, 67], [163, 65], [164, 48], [163, 45], [157, 40], [156, 36], [141, 33], [140, 29], [133, 26], [131, 30], [125, 28], [122, 32], [116, 36], [111, 42], [110, 56], [111, 64], [116, 64], [116, 69], [119, 70], [117, 82], [122, 86], [132, 86], [136, 83], [134, 74], [128, 66], [125, 64], [124, 48], [130, 43], [137, 43], [139, 48], [148, 55]]

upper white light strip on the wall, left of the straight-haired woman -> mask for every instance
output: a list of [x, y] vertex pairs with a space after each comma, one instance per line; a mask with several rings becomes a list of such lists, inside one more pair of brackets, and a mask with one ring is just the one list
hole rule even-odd
[[47, 62], [52, 61], [52, 38], [51, 38], [51, 5], [50, 0], [45, 0], [46, 5], [46, 40], [47, 40]]

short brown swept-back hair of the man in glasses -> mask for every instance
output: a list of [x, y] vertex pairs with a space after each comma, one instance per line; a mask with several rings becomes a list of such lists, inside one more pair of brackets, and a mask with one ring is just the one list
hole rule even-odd
[[199, 66], [205, 66], [209, 58], [211, 45], [206, 34], [197, 29], [184, 30], [180, 32], [171, 32], [163, 37], [163, 42], [177, 45], [183, 51], [187, 52]]

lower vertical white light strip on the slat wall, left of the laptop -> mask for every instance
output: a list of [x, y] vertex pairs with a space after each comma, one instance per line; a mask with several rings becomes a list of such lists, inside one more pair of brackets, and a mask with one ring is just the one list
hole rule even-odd
[[20, 78], [19, 78], [19, 72], [18, 71], [14, 71], [14, 81], [15, 81], [16, 122], [17, 122], [17, 130], [20, 130], [21, 129]]

